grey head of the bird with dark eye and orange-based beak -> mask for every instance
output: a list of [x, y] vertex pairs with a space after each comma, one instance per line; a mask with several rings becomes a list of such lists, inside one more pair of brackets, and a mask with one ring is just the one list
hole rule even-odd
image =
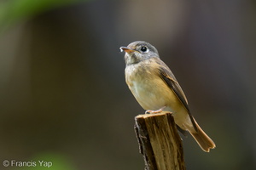
[[120, 47], [121, 52], [125, 51], [125, 64], [136, 64], [145, 59], [157, 57], [159, 54], [156, 48], [148, 42], [131, 42], [127, 47]]

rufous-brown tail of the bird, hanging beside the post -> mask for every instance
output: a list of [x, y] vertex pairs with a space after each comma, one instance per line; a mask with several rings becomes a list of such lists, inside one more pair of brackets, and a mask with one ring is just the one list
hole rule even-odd
[[197, 144], [200, 145], [201, 149], [206, 152], [209, 152], [210, 149], [214, 149], [216, 145], [214, 144], [212, 139], [210, 139], [210, 137], [207, 136], [207, 133], [205, 133], [201, 129], [201, 127], [197, 124], [197, 122], [195, 122], [195, 126], [197, 127], [197, 131], [195, 131], [195, 129], [193, 128], [193, 130], [191, 131], [189, 130], [189, 133], [193, 136]]

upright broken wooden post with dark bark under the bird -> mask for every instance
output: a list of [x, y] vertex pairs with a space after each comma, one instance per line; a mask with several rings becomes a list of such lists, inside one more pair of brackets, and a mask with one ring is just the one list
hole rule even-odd
[[135, 132], [146, 170], [184, 170], [182, 139], [170, 112], [135, 117]]

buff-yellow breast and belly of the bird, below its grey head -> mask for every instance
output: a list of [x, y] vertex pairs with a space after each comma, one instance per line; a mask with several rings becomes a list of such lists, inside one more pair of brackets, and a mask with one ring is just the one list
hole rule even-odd
[[125, 68], [125, 81], [144, 110], [177, 105], [176, 95], [160, 78], [157, 68], [157, 65], [142, 62]]

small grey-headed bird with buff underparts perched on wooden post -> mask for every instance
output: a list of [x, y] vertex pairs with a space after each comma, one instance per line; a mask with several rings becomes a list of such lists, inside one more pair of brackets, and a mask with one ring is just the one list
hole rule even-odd
[[209, 152], [215, 144], [195, 121], [188, 100], [158, 51], [148, 42], [131, 42], [125, 51], [125, 82], [146, 113], [171, 111], [181, 132], [189, 131], [201, 149]]

